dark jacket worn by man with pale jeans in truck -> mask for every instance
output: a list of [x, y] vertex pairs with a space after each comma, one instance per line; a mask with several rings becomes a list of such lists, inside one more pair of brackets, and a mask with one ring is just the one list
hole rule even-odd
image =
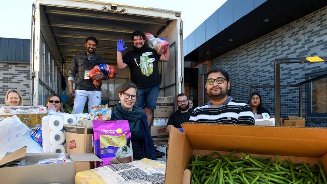
[[71, 62], [69, 77], [75, 78], [74, 82], [76, 84], [77, 90], [101, 91], [101, 84], [99, 87], [96, 88], [92, 83], [93, 82], [92, 79], [88, 79], [88, 80], [84, 79], [84, 71], [85, 70], [90, 71], [94, 66], [99, 64], [106, 64], [106, 62], [97, 53], [94, 53], [90, 61], [88, 60], [88, 56], [86, 55], [85, 52], [75, 55], [75, 57], [72, 59]]

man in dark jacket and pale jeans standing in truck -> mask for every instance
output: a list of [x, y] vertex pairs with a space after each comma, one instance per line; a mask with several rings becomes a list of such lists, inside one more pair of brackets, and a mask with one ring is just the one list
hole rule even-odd
[[[89, 78], [90, 70], [94, 66], [106, 64], [103, 58], [95, 52], [98, 43], [95, 37], [88, 37], [85, 43], [86, 51], [76, 54], [72, 59], [68, 77], [69, 96], [75, 97], [72, 114], [82, 113], [87, 99], [89, 100], [89, 113], [91, 107], [99, 106], [101, 103], [101, 84], [95, 87], [92, 82], [93, 80], [108, 80], [108, 76], [95, 74], [93, 80]], [[76, 90], [73, 89], [73, 83], [76, 85]]]

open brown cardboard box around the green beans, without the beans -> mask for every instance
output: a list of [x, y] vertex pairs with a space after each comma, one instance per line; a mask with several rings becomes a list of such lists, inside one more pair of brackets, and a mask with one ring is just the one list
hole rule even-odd
[[[300, 167], [304, 167], [301, 164], [306, 162], [308, 167], [312, 167], [320, 162], [322, 163], [321, 167], [327, 168], [326, 128], [202, 123], [184, 123], [182, 127], [185, 133], [181, 133], [174, 127], [170, 130], [165, 183], [190, 183], [191, 177], [187, 165], [191, 157], [202, 153], [209, 155], [214, 151], [226, 155], [236, 150], [236, 153], [232, 155], [233, 157], [241, 158], [240, 153], [248, 153], [250, 157], [271, 157], [272, 162], [275, 162], [275, 155], [278, 155], [279, 161], [289, 159], [292, 165], [294, 164], [293, 166], [300, 165]], [[289, 165], [291, 165], [291, 162], [289, 162]], [[282, 165], [281, 162], [280, 165]], [[319, 172], [318, 166], [316, 168], [316, 174], [320, 174], [319, 177], [324, 183], [323, 174]], [[305, 168], [303, 173], [299, 172], [292, 170], [295, 177], [300, 174], [310, 175]], [[228, 177], [227, 172], [223, 173], [223, 177]], [[210, 177], [209, 173], [208, 175]], [[292, 177], [289, 180], [292, 180]], [[312, 180], [316, 179], [316, 177], [312, 177]], [[216, 179], [217, 183], [218, 181]], [[316, 182], [318, 183], [318, 181]], [[209, 183], [212, 183], [212, 180]]]

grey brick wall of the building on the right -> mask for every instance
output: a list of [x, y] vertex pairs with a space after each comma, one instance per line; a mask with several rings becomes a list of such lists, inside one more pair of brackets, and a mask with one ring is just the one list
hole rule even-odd
[[[324, 7], [252, 42], [213, 59], [211, 68], [226, 70], [231, 78], [231, 96], [247, 102], [249, 86], [274, 85], [274, 59], [326, 56], [327, 8]], [[281, 64], [281, 85], [296, 84], [307, 79], [309, 73], [326, 71], [327, 63]], [[303, 87], [303, 116], [306, 117], [307, 86]], [[258, 91], [263, 106], [275, 114], [274, 89]], [[298, 116], [298, 88], [281, 89], [281, 116]], [[307, 119], [308, 121], [308, 119]], [[314, 124], [308, 126], [326, 126]], [[326, 121], [325, 121], [326, 122]]]

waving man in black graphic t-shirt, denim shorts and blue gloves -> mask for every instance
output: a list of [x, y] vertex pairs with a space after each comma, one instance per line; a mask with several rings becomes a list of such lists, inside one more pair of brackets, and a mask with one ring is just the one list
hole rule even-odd
[[169, 61], [170, 52], [167, 48], [165, 53], [159, 55], [155, 50], [148, 48], [145, 44], [145, 35], [139, 30], [131, 34], [131, 39], [133, 50], [127, 52], [124, 57], [122, 52], [127, 49], [124, 47], [125, 41], [118, 40], [117, 67], [118, 69], [129, 67], [132, 82], [136, 84], [138, 89], [136, 106], [145, 109], [147, 122], [150, 126], [161, 84], [158, 63], [159, 61]]

